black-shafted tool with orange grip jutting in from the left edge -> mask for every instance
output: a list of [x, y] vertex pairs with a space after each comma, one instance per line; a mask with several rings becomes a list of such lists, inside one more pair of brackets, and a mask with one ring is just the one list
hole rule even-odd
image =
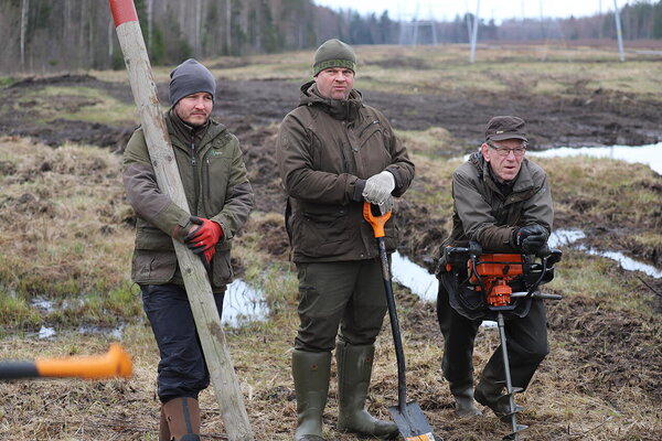
[[34, 363], [0, 363], [0, 378], [4, 379], [34, 377], [128, 378], [132, 370], [131, 358], [117, 343], [113, 343], [108, 352], [103, 355], [38, 358]]

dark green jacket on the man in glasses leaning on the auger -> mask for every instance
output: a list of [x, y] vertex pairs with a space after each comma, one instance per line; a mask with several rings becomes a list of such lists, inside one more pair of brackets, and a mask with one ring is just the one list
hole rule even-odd
[[512, 243], [515, 228], [538, 224], [552, 232], [554, 211], [547, 174], [524, 158], [510, 194], [496, 185], [489, 163], [472, 153], [452, 175], [452, 232], [444, 246], [467, 246], [476, 240], [485, 250], [519, 252]]

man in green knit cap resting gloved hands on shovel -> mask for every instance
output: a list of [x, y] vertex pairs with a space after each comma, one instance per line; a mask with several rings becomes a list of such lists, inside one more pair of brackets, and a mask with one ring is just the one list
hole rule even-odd
[[[331, 352], [338, 364], [338, 428], [389, 438], [397, 427], [364, 408], [374, 342], [386, 313], [378, 251], [363, 202], [393, 207], [414, 179], [414, 164], [378, 110], [353, 88], [354, 51], [339, 40], [314, 55], [313, 79], [278, 132], [277, 158], [288, 193], [286, 227], [299, 277], [300, 326], [292, 352], [296, 441], [320, 441]], [[386, 223], [386, 247], [397, 228]], [[340, 336], [337, 335], [340, 326]]]

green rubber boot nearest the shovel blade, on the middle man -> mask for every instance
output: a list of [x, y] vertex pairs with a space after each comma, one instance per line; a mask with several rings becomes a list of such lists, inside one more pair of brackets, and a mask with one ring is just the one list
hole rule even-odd
[[397, 426], [374, 418], [365, 410], [365, 398], [372, 375], [374, 345], [353, 346], [344, 342], [335, 345], [338, 363], [338, 429], [365, 435], [392, 439]]

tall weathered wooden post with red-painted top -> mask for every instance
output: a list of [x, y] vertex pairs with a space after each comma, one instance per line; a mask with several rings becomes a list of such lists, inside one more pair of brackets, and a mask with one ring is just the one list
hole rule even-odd
[[[182, 209], [189, 211], [166, 121], [159, 107], [157, 87], [136, 6], [134, 0], [108, 1], [159, 189]], [[231, 441], [253, 441], [255, 437], [248, 422], [206, 271], [200, 258], [189, 248], [174, 239], [173, 243], [227, 435]]]

